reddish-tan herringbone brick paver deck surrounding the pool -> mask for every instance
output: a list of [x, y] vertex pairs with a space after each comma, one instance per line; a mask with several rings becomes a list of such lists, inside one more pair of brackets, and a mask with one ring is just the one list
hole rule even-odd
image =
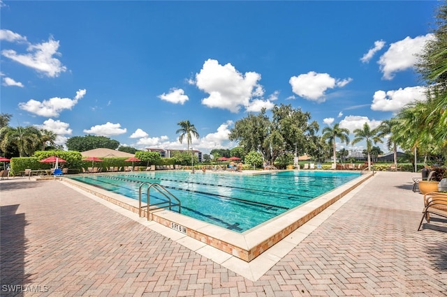
[[[60, 181], [0, 181], [1, 296], [446, 296], [447, 220], [379, 172], [256, 281]], [[116, 206], [117, 207], [117, 206]], [[17, 292], [19, 291], [19, 292]]]

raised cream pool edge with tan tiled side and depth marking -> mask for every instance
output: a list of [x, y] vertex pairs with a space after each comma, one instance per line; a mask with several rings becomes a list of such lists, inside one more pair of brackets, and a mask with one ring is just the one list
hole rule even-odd
[[[369, 172], [361, 174], [358, 178], [242, 234], [167, 210], [151, 212], [149, 213], [149, 219], [231, 256], [250, 262], [371, 176], [372, 173]], [[139, 213], [138, 201], [135, 199], [74, 181], [71, 178], [64, 178], [63, 180], [137, 215]], [[145, 211], [143, 216], [147, 217]]]

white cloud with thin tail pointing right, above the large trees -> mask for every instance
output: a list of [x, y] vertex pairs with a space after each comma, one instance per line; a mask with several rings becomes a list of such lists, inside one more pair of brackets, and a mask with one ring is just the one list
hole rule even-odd
[[349, 84], [352, 79], [335, 79], [328, 73], [309, 73], [293, 76], [289, 79], [293, 93], [307, 100], [316, 102], [325, 101], [325, 91]]

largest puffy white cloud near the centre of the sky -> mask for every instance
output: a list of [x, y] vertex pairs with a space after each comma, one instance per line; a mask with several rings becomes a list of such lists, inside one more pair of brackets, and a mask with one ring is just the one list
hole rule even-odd
[[202, 100], [203, 105], [239, 112], [240, 107], [251, 106], [252, 98], [263, 96], [260, 79], [258, 73], [242, 74], [230, 63], [222, 66], [217, 60], [208, 59], [196, 73], [196, 86], [210, 95]]

